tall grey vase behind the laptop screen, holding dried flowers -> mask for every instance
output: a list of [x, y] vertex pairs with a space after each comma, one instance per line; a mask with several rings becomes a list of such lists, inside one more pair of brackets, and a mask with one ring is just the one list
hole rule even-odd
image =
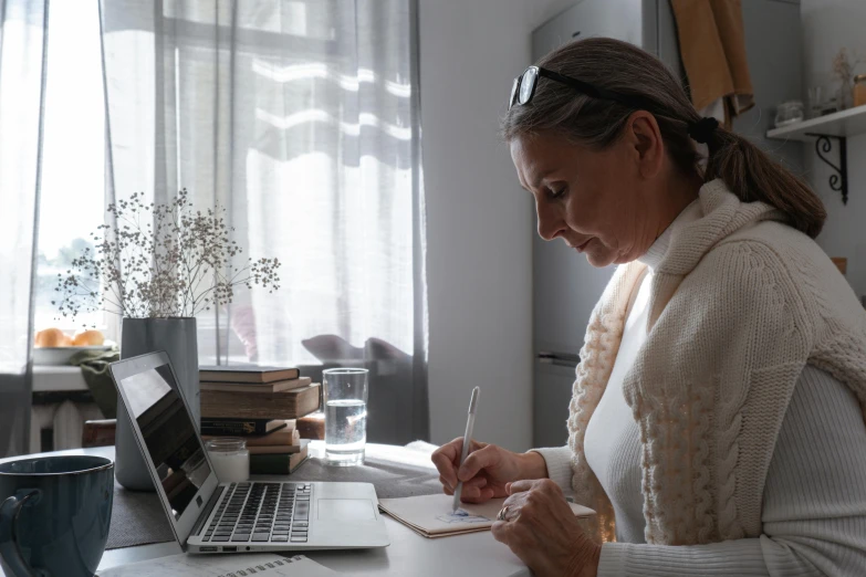
[[[121, 335], [121, 359], [165, 350], [177, 378], [177, 387], [191, 411], [196, 430], [201, 428], [201, 402], [198, 381], [198, 348], [196, 319], [124, 318]], [[117, 432], [115, 434], [115, 476], [126, 489], [154, 491], [133, 426], [117, 400]]]

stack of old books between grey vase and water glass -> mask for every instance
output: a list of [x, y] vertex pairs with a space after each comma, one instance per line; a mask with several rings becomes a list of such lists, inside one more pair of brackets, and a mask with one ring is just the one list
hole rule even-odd
[[243, 437], [251, 474], [288, 474], [306, 459], [295, 419], [319, 409], [320, 385], [296, 368], [201, 367], [201, 434]]

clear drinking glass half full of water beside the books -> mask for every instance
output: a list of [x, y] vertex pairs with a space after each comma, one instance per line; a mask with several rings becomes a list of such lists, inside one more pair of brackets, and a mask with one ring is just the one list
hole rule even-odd
[[367, 377], [362, 368], [322, 371], [325, 397], [325, 459], [327, 464], [364, 463], [367, 442]]

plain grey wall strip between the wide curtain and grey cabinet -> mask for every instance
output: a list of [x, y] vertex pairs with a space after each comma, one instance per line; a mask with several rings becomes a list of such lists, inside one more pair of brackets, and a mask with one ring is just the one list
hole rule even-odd
[[528, 65], [524, 0], [420, 0], [431, 441], [531, 441], [533, 206], [499, 139]]

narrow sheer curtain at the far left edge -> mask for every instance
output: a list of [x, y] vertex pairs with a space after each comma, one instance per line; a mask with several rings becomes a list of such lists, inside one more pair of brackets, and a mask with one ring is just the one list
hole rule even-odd
[[46, 20], [46, 0], [0, 0], [0, 457], [29, 451]]

